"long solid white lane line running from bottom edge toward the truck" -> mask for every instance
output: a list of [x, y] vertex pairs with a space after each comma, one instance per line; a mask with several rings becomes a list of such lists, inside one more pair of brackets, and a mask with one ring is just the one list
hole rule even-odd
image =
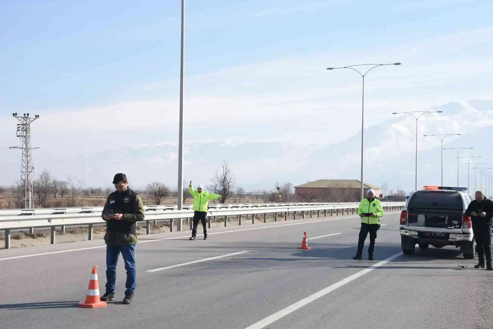
[[317, 300], [318, 298], [320, 297], [323, 297], [324, 295], [326, 295], [327, 293], [329, 292], [333, 292], [334, 290], [336, 290], [337, 288], [339, 287], [342, 287], [348, 283], [350, 283], [351, 281], [353, 280], [356, 280], [357, 278], [359, 278], [360, 276], [363, 276], [365, 275], [366, 273], [369, 273], [371, 271], [373, 271], [374, 269], [382, 266], [382, 265], [385, 265], [387, 264], [390, 260], [394, 259], [394, 258], [397, 258], [398, 256], [401, 256], [402, 255], [402, 252], [398, 253], [398, 254], [395, 254], [393, 256], [390, 256], [374, 265], [371, 265], [370, 267], [367, 267], [365, 268], [364, 270], [361, 270], [345, 279], [342, 279], [341, 281], [339, 282], [336, 282], [334, 283], [333, 285], [330, 285], [328, 286], [327, 288], [324, 288], [322, 290], [320, 290], [319, 292], [315, 292], [314, 294], [306, 297], [306, 298], [303, 298], [302, 300], [292, 304], [292, 305], [289, 305], [288, 307], [282, 309], [281, 311], [279, 312], [276, 312], [274, 313], [273, 315], [271, 316], [268, 316], [267, 318], [263, 319], [263, 320], [260, 320], [259, 322], [247, 327], [246, 329], [262, 329], [262, 328], [265, 328], [265, 326], [268, 326], [270, 324], [273, 324], [274, 322], [282, 319], [283, 317], [285, 317], [286, 315], [302, 308], [303, 306], [311, 303], [312, 301], [314, 300]]

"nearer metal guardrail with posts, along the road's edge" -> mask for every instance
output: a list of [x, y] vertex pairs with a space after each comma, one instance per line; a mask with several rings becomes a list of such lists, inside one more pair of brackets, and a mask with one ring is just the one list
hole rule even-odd
[[[352, 214], [359, 206], [359, 202], [355, 203], [340, 203], [340, 204], [269, 204], [274, 206], [264, 206], [264, 207], [231, 207], [227, 209], [213, 209], [209, 210], [208, 218], [215, 219], [216, 217], [224, 218], [224, 226], [227, 226], [228, 217], [236, 216], [239, 219], [239, 224], [242, 224], [242, 216], [252, 215], [252, 223], [255, 222], [255, 215], [263, 215], [264, 222], [267, 222], [267, 214], [274, 214], [274, 220], [277, 221], [277, 215], [279, 213], [284, 213], [284, 220], [290, 213], [293, 213], [294, 219], [296, 219], [297, 213], [302, 214], [302, 219], [305, 218], [305, 213], [310, 213], [310, 217], [313, 216], [313, 212], [317, 211], [318, 217], [320, 217], [320, 211], [324, 212], [324, 216], [327, 216], [327, 212], [330, 212], [330, 216], [339, 212], [344, 215], [349, 214], [350, 210]], [[385, 211], [400, 210], [405, 202], [383, 202]], [[211, 205], [212, 206], [212, 205]], [[183, 219], [193, 218], [193, 210], [170, 210], [165, 212], [158, 212], [157, 210], [163, 209], [166, 206], [155, 206], [156, 208], [146, 207], [145, 222], [146, 234], [150, 234], [151, 221], [154, 224], [157, 221], [169, 220], [170, 221], [170, 231], [174, 231], [174, 221], [176, 222], [177, 231], [181, 231], [183, 228]], [[102, 207], [100, 207], [102, 210]], [[212, 208], [212, 207], [211, 207]], [[82, 208], [77, 208], [79, 211]], [[140, 222], [138, 222], [139, 224]], [[71, 213], [63, 214], [40, 214], [31, 216], [2, 216], [0, 217], [0, 230], [5, 231], [5, 249], [10, 249], [10, 235], [11, 230], [27, 229], [34, 233], [34, 228], [50, 228], [51, 244], [55, 244], [56, 227], [62, 227], [65, 230], [66, 226], [88, 226], [88, 240], [92, 240], [94, 225], [105, 225], [106, 222], [101, 218], [101, 211], [96, 211], [93, 208], [92, 212], [86, 213]], [[192, 221], [190, 220], [190, 229], [192, 229]], [[211, 228], [211, 220], [209, 220], [209, 228]]]

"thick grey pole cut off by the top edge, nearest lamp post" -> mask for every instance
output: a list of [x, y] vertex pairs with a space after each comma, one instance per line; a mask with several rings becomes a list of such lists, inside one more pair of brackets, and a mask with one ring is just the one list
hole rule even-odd
[[185, 0], [181, 0], [180, 114], [178, 132], [178, 210], [183, 207], [183, 68], [185, 56]]

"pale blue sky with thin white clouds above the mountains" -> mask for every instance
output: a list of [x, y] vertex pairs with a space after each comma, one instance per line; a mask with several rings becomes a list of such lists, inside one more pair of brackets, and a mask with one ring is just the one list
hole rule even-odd
[[[2, 156], [13, 112], [41, 156], [177, 142], [180, 1], [78, 2], [0, 1]], [[362, 79], [327, 67], [402, 63], [366, 76], [365, 127], [493, 98], [492, 1], [185, 2], [186, 143], [349, 138]]]

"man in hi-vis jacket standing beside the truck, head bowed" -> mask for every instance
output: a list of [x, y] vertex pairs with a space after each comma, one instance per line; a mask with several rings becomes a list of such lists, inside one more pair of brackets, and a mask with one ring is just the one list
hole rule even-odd
[[358, 251], [352, 259], [361, 259], [363, 246], [366, 237], [370, 233], [370, 246], [368, 247], [368, 260], [373, 260], [373, 251], [375, 250], [375, 240], [377, 231], [380, 228], [382, 216], [384, 216], [384, 207], [379, 199], [375, 198], [375, 190], [370, 188], [366, 192], [366, 199], [361, 200], [358, 207], [358, 215], [361, 217], [361, 228], [359, 230]]

